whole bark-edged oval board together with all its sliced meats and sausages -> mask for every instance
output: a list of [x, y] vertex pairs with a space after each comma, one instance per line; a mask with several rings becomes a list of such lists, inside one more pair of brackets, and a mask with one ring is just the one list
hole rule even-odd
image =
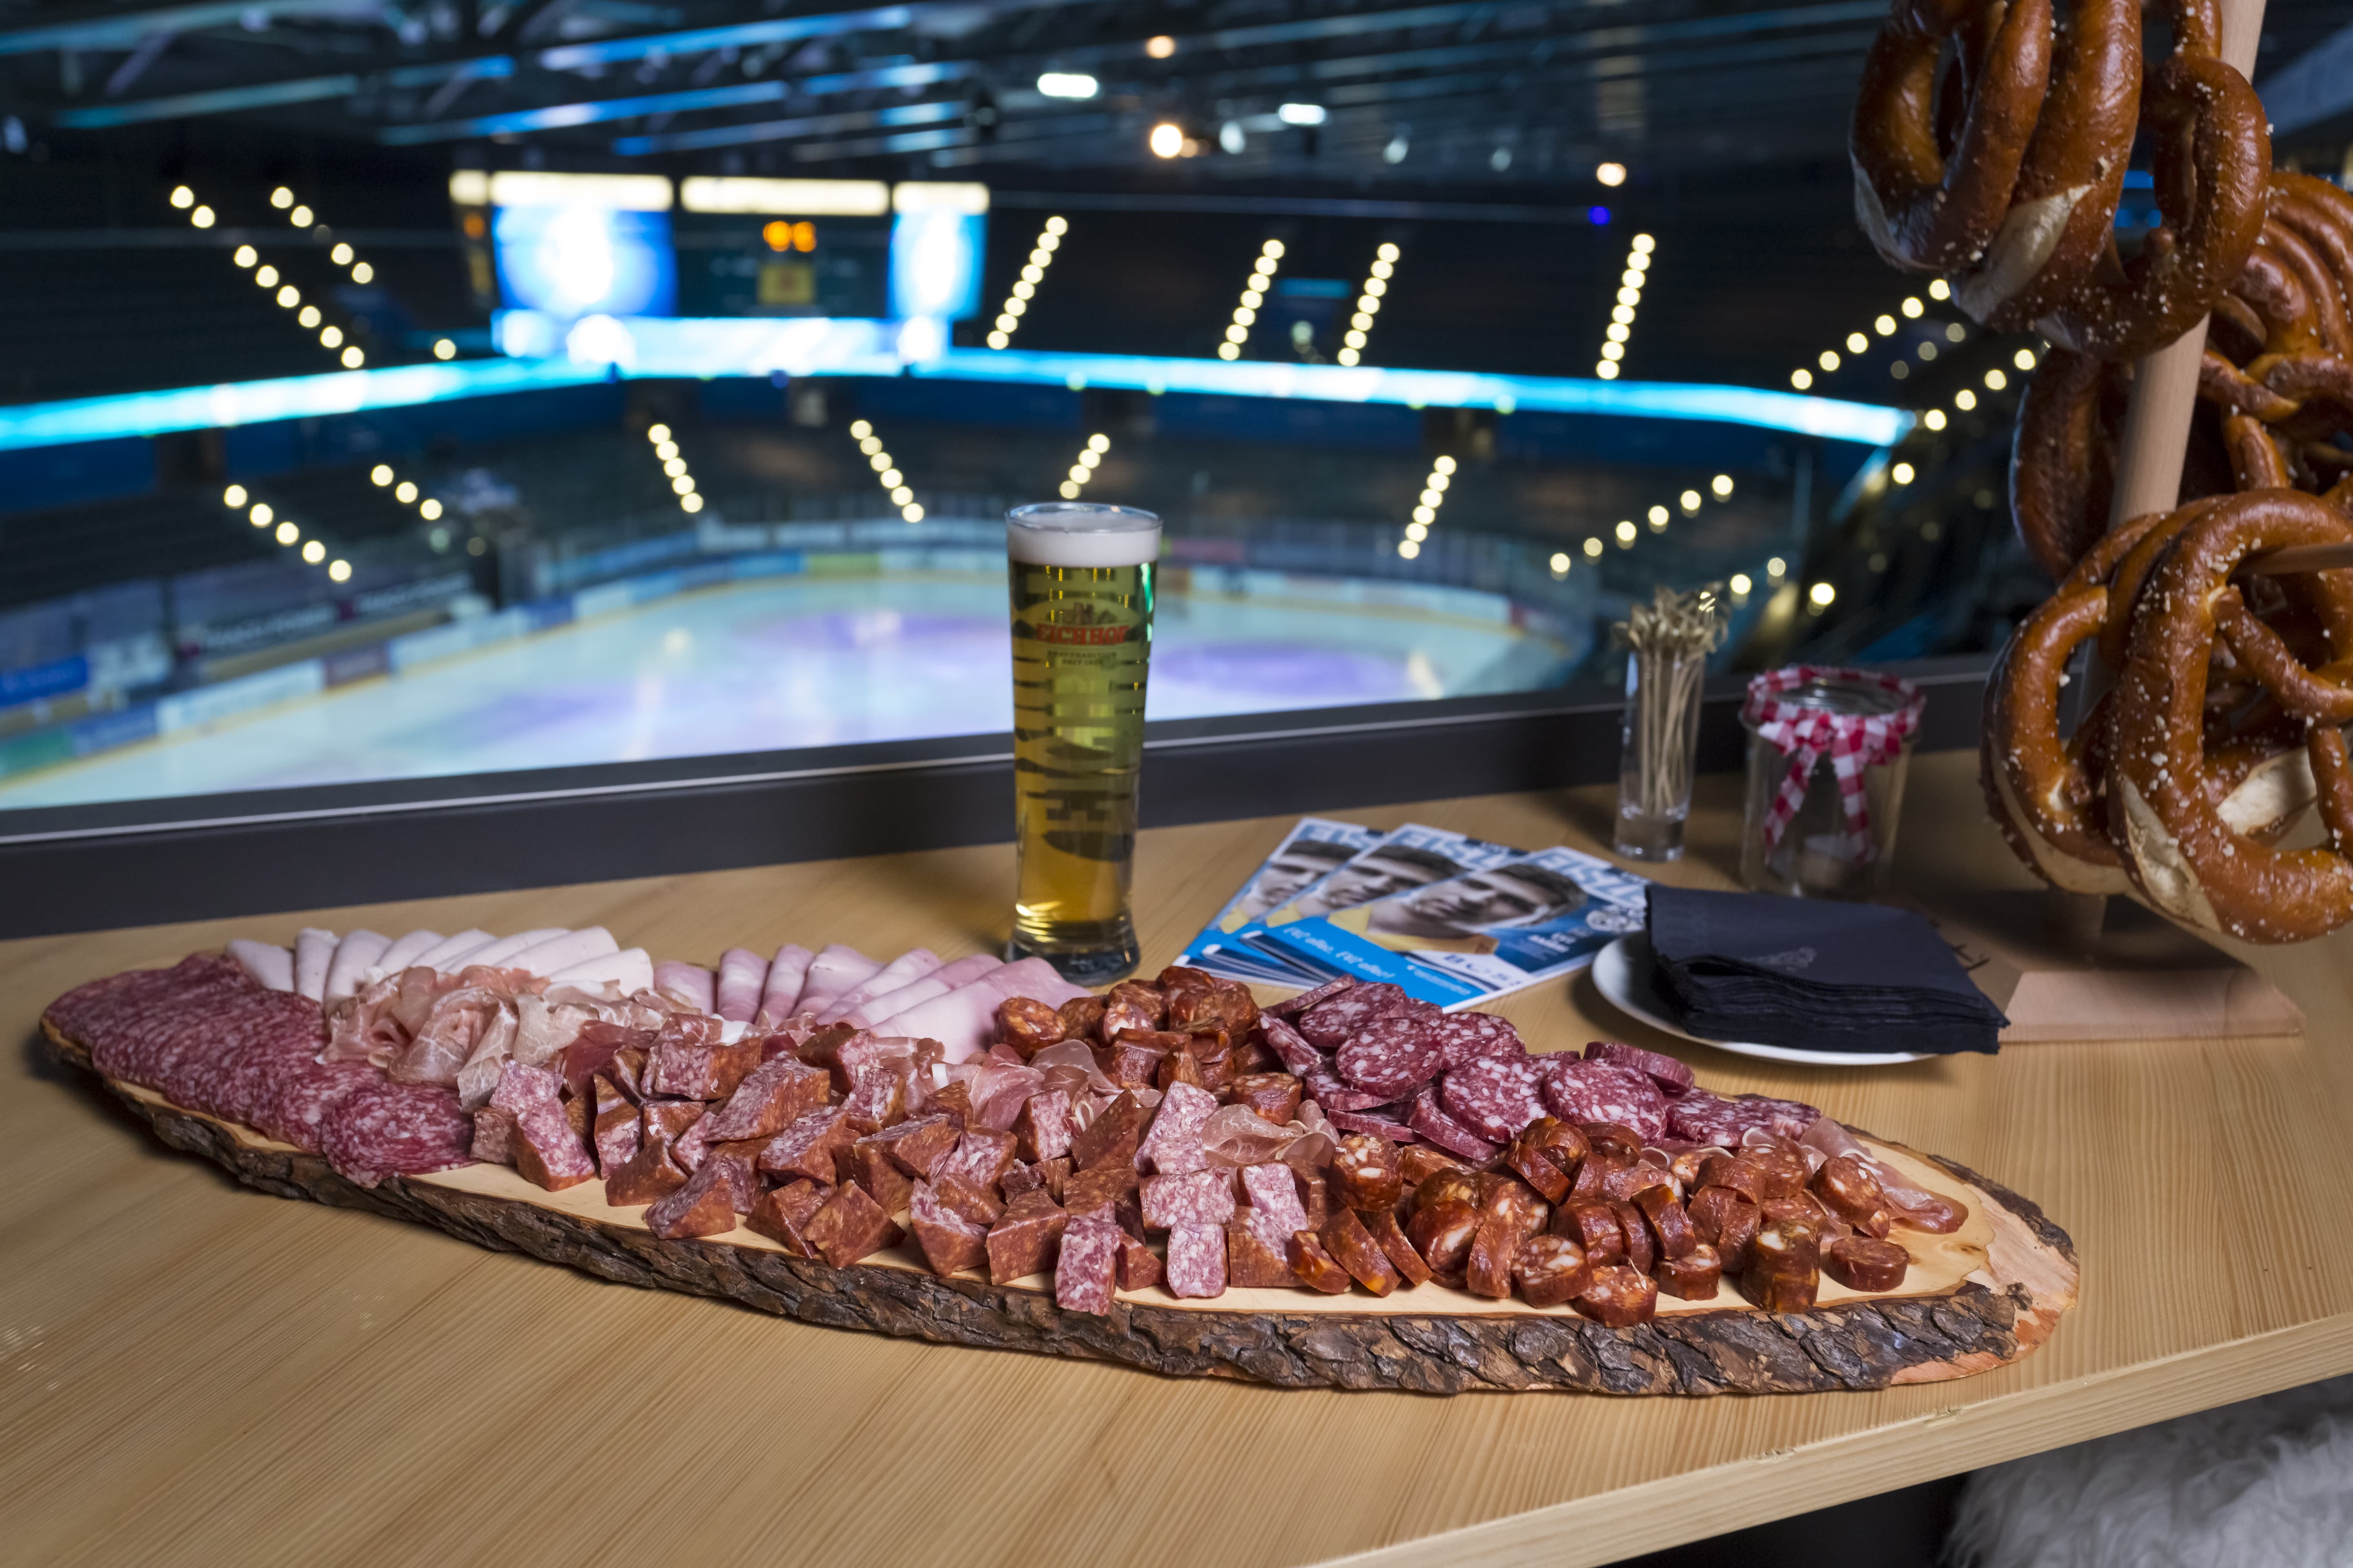
[[165, 1143], [280, 1197], [1174, 1375], [1868, 1389], [2014, 1361], [2075, 1298], [2066, 1234], [1962, 1166], [1386, 987], [1261, 1009], [1200, 971], [1096, 997], [993, 959], [713, 973], [602, 933], [525, 933], [569, 940], [562, 966], [353, 936], [99, 980], [42, 1027]]

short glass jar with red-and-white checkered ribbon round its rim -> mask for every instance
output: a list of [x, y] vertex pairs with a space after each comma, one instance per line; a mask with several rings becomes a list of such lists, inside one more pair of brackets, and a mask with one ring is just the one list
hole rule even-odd
[[1871, 898], [1887, 882], [1920, 689], [1871, 670], [1793, 665], [1748, 682], [1741, 886]]

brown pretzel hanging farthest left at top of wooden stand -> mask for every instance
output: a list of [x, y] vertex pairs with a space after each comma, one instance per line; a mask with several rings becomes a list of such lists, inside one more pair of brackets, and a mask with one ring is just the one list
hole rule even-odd
[[[1937, 63], [1955, 35], [1967, 110], [1946, 153]], [[1941, 273], [1986, 249], [2019, 183], [2049, 63], [2049, 0], [1894, 0], [1847, 136], [1854, 216], [1889, 266]]]

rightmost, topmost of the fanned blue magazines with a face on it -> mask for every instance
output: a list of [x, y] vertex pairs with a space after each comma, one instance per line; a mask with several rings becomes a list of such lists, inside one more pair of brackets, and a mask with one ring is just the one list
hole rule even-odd
[[1584, 969], [1607, 943], [1642, 929], [1645, 884], [1595, 856], [1541, 849], [1266, 926], [1264, 940], [1318, 978], [1393, 980], [1452, 1009]]

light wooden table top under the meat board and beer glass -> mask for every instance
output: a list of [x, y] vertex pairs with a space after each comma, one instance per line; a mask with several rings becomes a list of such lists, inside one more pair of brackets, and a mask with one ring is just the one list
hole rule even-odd
[[[1732, 780], [1692, 858], [1727, 886]], [[1348, 813], [1598, 849], [1609, 792]], [[1289, 818], [1144, 835], [1151, 969]], [[2031, 886], [1974, 757], [1913, 764], [1908, 886]], [[1880, 1394], [1287, 1392], [842, 1333], [602, 1284], [242, 1190], [45, 1063], [68, 985], [231, 936], [607, 924], [656, 957], [1002, 940], [1005, 846], [306, 910], [0, 945], [0, 1516], [16, 1561], [1607, 1563], [2353, 1371], [2348, 938], [2240, 950], [2304, 1039], [2035, 1044], [1774, 1067], [1788, 1093], [2040, 1201], [2082, 1302], [2019, 1366]], [[14, 889], [14, 896], [38, 896]], [[1579, 978], [1497, 1011], [1537, 1048], [1668, 1044]], [[19, 1556], [21, 1554], [21, 1556]]]

